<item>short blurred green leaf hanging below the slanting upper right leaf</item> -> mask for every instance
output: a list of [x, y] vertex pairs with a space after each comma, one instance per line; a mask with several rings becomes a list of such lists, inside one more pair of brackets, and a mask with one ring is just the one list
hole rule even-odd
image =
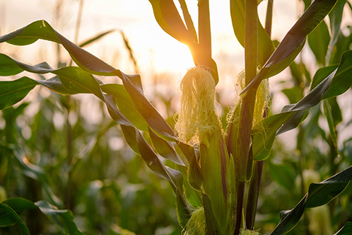
[[319, 64], [325, 65], [325, 57], [329, 47], [330, 35], [327, 23], [322, 21], [315, 30], [308, 35], [308, 44]]

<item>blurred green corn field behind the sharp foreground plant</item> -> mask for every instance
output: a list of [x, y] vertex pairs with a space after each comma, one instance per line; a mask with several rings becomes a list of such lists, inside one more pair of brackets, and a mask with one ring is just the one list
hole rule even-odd
[[[57, 1], [55, 8], [57, 24], [65, 16], [62, 2]], [[78, 6], [75, 42], [78, 42], [84, 1], [79, 1]], [[351, 11], [348, 1], [344, 11]], [[326, 37], [329, 35], [327, 28], [329, 26], [323, 23], [308, 37], [313, 53], [306, 47], [290, 69], [279, 75], [286, 77], [278, 84], [281, 89], [273, 91], [273, 102], [278, 96], [283, 98], [282, 93], [289, 103], [300, 101], [312, 86], [311, 74], [315, 74], [319, 67], [339, 63], [342, 53], [351, 49], [351, 30], [347, 25], [338, 36], [331, 35], [338, 42], [334, 53], [328, 52], [330, 38]], [[121, 46], [129, 55], [129, 67], [139, 71], [134, 45], [129, 44], [128, 36], [120, 35]], [[316, 45], [315, 42], [320, 41], [322, 44]], [[58, 68], [71, 63], [69, 59], [62, 59], [60, 48], [58, 46], [52, 54], [56, 55]], [[329, 53], [334, 56], [325, 59]], [[316, 64], [305, 60], [312, 56]], [[119, 60], [119, 55], [115, 59]], [[160, 79], [165, 76], [172, 74], [152, 74], [151, 85], [160, 86], [165, 82], [165, 86], [152, 88], [148, 98], [158, 110], [162, 110], [163, 117], [174, 127], [173, 115], [178, 98], [173, 92], [175, 88], [169, 91], [168, 82]], [[38, 79], [43, 78], [39, 76]], [[23, 102], [1, 112], [1, 201], [6, 197], [23, 197], [33, 202], [43, 198], [59, 202], [74, 213], [77, 226], [85, 234], [181, 234], [182, 228], [175, 213], [175, 197], [170, 196], [173, 193], [169, 183], [160, 180], [125, 144], [120, 128], [111, 120], [101, 102], [89, 95], [59, 96], [41, 86], [35, 89], [37, 92], [31, 92]], [[282, 92], [281, 95], [279, 92]], [[274, 229], [280, 220], [278, 212], [293, 208], [307, 192], [309, 183], [329, 178], [351, 166], [351, 94], [349, 90], [339, 98], [329, 99], [327, 103], [312, 108], [298, 130], [276, 139], [264, 166], [255, 224], [255, 227], [262, 228], [262, 234]], [[230, 103], [224, 102], [227, 98], [228, 92], [217, 93], [221, 103]], [[223, 120], [227, 112], [228, 109], [223, 108]], [[297, 138], [293, 138], [293, 134]], [[287, 139], [288, 136], [291, 139]], [[285, 143], [293, 139], [295, 144], [288, 147]], [[14, 142], [23, 151], [17, 156], [25, 154], [30, 164], [13, 157], [4, 147]], [[337, 231], [347, 221], [352, 221], [351, 197], [349, 186], [323, 210], [325, 215], [329, 211], [327, 221], [331, 223], [330, 231]], [[311, 225], [315, 222], [314, 214], [319, 212], [309, 210], [310, 214], [289, 234], [320, 234]], [[63, 233], [59, 223], [53, 222], [39, 210], [25, 211], [21, 217], [31, 234]], [[18, 225], [0, 229], [3, 234], [19, 233]]]

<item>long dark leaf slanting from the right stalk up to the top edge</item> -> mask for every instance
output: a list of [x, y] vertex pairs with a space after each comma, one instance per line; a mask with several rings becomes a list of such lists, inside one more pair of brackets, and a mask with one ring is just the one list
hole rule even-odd
[[332, 10], [337, 0], [321, 0], [313, 1], [312, 5], [303, 13], [298, 21], [288, 31], [281, 43], [276, 48], [268, 61], [253, 81], [242, 91], [247, 92], [250, 88], [259, 86], [262, 79], [278, 72], [283, 71], [288, 67], [293, 59], [302, 50], [306, 36], [314, 30], [325, 16]]

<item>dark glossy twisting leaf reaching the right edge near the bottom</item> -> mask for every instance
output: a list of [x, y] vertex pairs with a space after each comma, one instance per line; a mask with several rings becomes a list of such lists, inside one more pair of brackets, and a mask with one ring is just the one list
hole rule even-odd
[[281, 219], [271, 235], [286, 234], [302, 217], [305, 208], [327, 204], [339, 195], [352, 180], [352, 166], [320, 183], [311, 183], [305, 197], [292, 210], [280, 213]]

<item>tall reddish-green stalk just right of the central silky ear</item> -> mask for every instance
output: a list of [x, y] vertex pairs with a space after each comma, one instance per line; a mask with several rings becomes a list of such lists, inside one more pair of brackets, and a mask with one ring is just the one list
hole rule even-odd
[[[245, 84], [250, 84], [257, 74], [258, 59], [258, 12], [257, 0], [247, 0], [245, 3]], [[236, 139], [235, 174], [237, 180], [237, 205], [235, 235], [240, 233], [242, 221], [243, 197], [245, 181], [247, 180], [247, 164], [250, 152], [252, 122], [257, 86], [248, 90], [240, 110], [240, 120]]]

